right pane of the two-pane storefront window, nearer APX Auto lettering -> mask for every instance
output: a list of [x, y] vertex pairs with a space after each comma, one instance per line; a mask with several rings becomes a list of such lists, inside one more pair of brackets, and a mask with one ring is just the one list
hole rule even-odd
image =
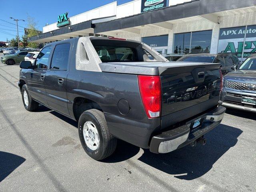
[[190, 53], [210, 53], [212, 30], [192, 32]]

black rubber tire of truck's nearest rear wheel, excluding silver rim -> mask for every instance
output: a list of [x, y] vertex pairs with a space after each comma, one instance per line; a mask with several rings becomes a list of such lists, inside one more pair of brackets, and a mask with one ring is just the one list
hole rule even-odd
[[[92, 122], [98, 130], [100, 142], [96, 150], [90, 149], [84, 140], [84, 124], [88, 121]], [[94, 160], [103, 160], [116, 150], [117, 139], [110, 134], [104, 113], [100, 110], [90, 109], [82, 113], [78, 121], [78, 134], [85, 152]]]

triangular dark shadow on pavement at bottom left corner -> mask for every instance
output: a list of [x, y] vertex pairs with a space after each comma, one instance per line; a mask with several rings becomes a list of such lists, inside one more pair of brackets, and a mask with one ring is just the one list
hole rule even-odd
[[0, 151], [0, 182], [18, 168], [26, 159]]

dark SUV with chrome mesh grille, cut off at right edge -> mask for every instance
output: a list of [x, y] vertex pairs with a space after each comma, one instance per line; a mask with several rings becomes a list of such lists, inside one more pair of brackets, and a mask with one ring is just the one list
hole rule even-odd
[[227, 74], [223, 83], [222, 106], [256, 112], [256, 54], [247, 58], [236, 71]]

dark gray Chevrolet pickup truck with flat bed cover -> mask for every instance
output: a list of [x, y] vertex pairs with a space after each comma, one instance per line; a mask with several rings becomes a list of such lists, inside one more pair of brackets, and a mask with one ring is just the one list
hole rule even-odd
[[168, 62], [141, 42], [81, 37], [47, 44], [20, 64], [24, 107], [42, 104], [78, 121], [85, 152], [110, 156], [117, 138], [167, 153], [205, 144], [222, 121], [220, 64]]

